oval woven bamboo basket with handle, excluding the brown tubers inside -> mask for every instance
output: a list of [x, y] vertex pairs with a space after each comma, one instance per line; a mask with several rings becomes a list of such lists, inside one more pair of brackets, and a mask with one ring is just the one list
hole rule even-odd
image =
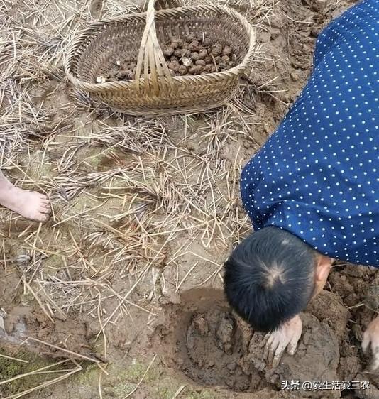
[[[255, 48], [250, 23], [234, 9], [218, 5], [186, 6], [155, 11], [154, 0], [144, 13], [92, 23], [72, 43], [65, 72], [79, 89], [131, 115], [183, 114], [205, 111], [236, 95], [238, 80], [248, 69]], [[160, 43], [204, 34], [229, 45], [236, 67], [206, 75], [170, 75]], [[137, 61], [136, 78], [97, 83], [116, 60]]]

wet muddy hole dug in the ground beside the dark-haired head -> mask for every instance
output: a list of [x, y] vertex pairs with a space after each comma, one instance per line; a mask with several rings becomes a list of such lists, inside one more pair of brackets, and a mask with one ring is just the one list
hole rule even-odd
[[221, 290], [189, 290], [182, 295], [180, 309], [172, 312], [171, 308], [171, 315], [166, 342], [172, 345], [175, 368], [185, 376], [199, 385], [236, 392], [269, 385], [256, 369], [243, 363], [251, 337]]

